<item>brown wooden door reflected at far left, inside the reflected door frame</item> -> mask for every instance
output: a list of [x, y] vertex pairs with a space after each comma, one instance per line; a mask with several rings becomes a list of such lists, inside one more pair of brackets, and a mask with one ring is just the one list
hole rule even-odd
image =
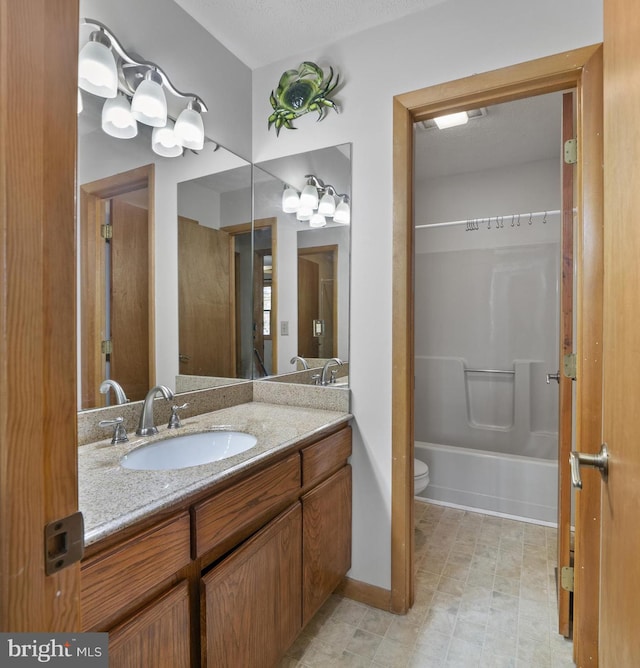
[[111, 370], [131, 401], [152, 387], [149, 369], [149, 216], [145, 208], [111, 200]]

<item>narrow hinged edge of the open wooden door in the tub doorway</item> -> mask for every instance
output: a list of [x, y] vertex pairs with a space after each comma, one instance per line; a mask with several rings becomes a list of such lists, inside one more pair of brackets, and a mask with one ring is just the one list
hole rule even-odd
[[[562, 143], [575, 139], [574, 93], [562, 96]], [[558, 631], [571, 635], [570, 593], [562, 587], [561, 569], [571, 565], [571, 471], [569, 453], [572, 449], [572, 379], [562, 371], [565, 356], [574, 350], [573, 341], [573, 190], [574, 165], [562, 161], [562, 273], [560, 285], [560, 351], [559, 417], [558, 417]]]

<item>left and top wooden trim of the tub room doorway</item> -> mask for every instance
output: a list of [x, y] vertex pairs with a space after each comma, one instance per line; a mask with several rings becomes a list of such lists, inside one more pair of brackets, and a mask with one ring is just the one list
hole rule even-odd
[[[414, 596], [413, 123], [464, 108], [567, 88], [577, 88], [580, 95], [585, 64], [600, 49], [598, 44], [583, 47], [394, 97], [391, 427], [391, 608], [394, 612], [406, 612]], [[589, 113], [583, 106], [579, 123], [581, 120], [584, 123]], [[581, 203], [578, 205], [579, 219], [582, 219]], [[581, 263], [582, 258], [577, 261]], [[585, 290], [589, 287], [590, 284], [583, 285]], [[584, 303], [589, 295], [585, 293], [582, 297], [581, 303]], [[583, 348], [586, 343], [582, 342]]]

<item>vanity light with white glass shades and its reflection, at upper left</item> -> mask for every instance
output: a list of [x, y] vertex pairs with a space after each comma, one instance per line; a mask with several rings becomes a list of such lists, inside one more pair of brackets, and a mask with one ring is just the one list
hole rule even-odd
[[[92, 95], [106, 98], [102, 111], [104, 132], [130, 139], [138, 134], [138, 121], [155, 130], [167, 128], [165, 133], [153, 133], [152, 148], [158, 155], [182, 155], [183, 147], [201, 150], [205, 142], [202, 114], [207, 111], [202, 99], [194, 93], [179, 91], [155, 63], [125, 51], [100, 21], [85, 18], [81, 23], [94, 26], [96, 30], [80, 51], [78, 85]], [[78, 113], [81, 113], [82, 98], [78, 93]], [[167, 111], [167, 93], [187, 100], [175, 127], [175, 119]]]

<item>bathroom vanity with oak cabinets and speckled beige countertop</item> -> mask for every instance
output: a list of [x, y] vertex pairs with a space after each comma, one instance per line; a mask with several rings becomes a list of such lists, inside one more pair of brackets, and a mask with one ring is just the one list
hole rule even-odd
[[349, 418], [261, 403], [198, 416], [188, 429], [245, 420], [258, 444], [191, 470], [125, 471], [130, 444], [80, 449], [82, 628], [109, 632], [112, 668], [277, 664], [350, 568]]

